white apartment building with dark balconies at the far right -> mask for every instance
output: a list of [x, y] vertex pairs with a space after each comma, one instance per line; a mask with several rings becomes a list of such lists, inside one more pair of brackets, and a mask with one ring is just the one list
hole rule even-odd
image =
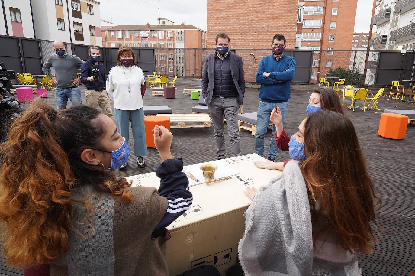
[[[415, 50], [415, 0], [376, 0], [371, 50]], [[374, 84], [378, 53], [371, 52], [366, 84]]]

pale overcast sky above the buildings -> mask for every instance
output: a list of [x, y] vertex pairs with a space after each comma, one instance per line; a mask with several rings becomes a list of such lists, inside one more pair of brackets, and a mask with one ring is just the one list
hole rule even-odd
[[[175, 24], [195, 25], [206, 30], [207, 0], [99, 0], [101, 2], [101, 19], [112, 21], [115, 25], [150, 25], [157, 24], [160, 17], [165, 17]], [[121, 8], [120, 8], [121, 6]], [[355, 32], [369, 32], [372, 15], [372, 0], [358, 0]], [[102, 25], [105, 25], [104, 23]]]

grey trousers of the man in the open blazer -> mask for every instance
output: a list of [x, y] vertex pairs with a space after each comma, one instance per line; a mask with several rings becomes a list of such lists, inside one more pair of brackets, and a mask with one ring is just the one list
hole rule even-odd
[[219, 98], [212, 97], [207, 105], [215, 129], [215, 140], [218, 158], [226, 158], [225, 137], [223, 136], [223, 115], [226, 118], [229, 138], [231, 139], [231, 150], [233, 156], [241, 155], [241, 142], [238, 131], [238, 110], [239, 104], [236, 97]]

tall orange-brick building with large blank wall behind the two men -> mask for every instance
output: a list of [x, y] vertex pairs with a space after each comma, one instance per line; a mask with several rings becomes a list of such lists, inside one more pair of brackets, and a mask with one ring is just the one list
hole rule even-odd
[[[207, 47], [214, 47], [218, 32], [227, 32], [230, 47], [269, 49], [238, 51], [244, 60], [245, 78], [254, 81], [259, 60], [271, 54], [271, 40], [277, 34], [287, 39], [286, 49], [350, 50], [354, 34], [357, 0], [237, 0], [207, 1]], [[225, 19], [224, 19], [225, 18]], [[254, 59], [250, 53], [253, 53]], [[315, 51], [312, 81], [330, 68], [349, 67], [350, 52]]]

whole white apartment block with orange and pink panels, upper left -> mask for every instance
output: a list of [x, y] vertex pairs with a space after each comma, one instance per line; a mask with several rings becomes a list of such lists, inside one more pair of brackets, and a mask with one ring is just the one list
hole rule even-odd
[[[3, 0], [0, 34], [102, 46], [95, 0]], [[6, 20], [3, 14], [6, 14]], [[3, 25], [2, 22], [5, 22]]]

